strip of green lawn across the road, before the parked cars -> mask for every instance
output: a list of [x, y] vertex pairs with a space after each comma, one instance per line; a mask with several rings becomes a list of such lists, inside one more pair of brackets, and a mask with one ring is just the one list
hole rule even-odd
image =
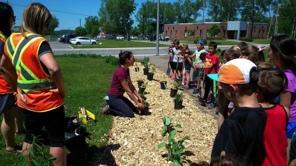
[[[134, 47], [156, 47], [156, 43], [144, 43], [126, 40], [98, 40], [102, 45], [71, 45], [73, 48], [134, 48]], [[160, 47], [170, 45], [159, 44]]]

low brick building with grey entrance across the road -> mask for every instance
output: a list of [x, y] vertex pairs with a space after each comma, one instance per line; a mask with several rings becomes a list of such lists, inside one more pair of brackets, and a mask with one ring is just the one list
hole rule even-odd
[[[221, 27], [220, 33], [216, 38], [239, 39], [240, 37], [251, 37], [251, 22], [244, 21], [229, 21], [229, 22], [206, 22], [204, 24], [203, 39], [210, 37], [208, 30], [212, 24], [217, 24]], [[165, 24], [164, 35], [170, 39], [189, 39], [187, 31], [193, 29], [195, 36], [201, 38], [202, 23], [181, 23], [181, 24]], [[252, 37], [256, 39], [265, 39], [267, 33], [267, 23], [253, 23]]]

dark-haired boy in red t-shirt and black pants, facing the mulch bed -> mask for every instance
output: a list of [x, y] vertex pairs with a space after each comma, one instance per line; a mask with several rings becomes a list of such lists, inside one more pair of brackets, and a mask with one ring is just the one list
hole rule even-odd
[[[216, 107], [215, 98], [214, 98], [214, 82], [213, 79], [207, 77], [207, 74], [216, 74], [216, 66], [218, 64], [218, 56], [216, 54], [217, 43], [210, 42], [209, 43], [209, 54], [205, 57], [205, 63], [203, 66], [200, 66], [199, 69], [205, 69], [205, 94], [203, 96], [203, 100], [207, 103], [207, 97], [209, 95], [210, 89], [212, 90], [211, 95], [211, 105], [208, 107], [209, 109], [214, 109]], [[201, 104], [201, 103], [199, 103]]]

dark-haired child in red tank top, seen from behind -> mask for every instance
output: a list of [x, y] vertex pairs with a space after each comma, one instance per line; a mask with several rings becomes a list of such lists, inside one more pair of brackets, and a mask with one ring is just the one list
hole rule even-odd
[[287, 76], [278, 69], [259, 69], [257, 100], [267, 114], [266, 126], [263, 133], [264, 149], [259, 157], [260, 165], [287, 165], [286, 138], [289, 119], [289, 109], [274, 104], [288, 85]]

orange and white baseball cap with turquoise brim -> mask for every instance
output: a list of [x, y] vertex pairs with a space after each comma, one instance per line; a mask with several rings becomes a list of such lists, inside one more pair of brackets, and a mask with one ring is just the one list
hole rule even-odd
[[219, 69], [218, 74], [208, 74], [211, 79], [226, 84], [248, 84], [250, 74], [258, 71], [257, 66], [250, 60], [238, 58], [227, 62]]

